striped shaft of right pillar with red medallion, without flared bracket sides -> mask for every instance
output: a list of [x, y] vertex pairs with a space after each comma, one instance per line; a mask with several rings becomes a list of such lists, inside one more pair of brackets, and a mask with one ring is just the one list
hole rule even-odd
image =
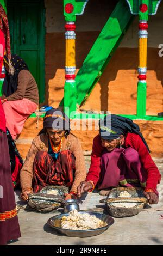
[[146, 115], [147, 96], [147, 38], [148, 38], [148, 0], [139, 1], [139, 67], [137, 83], [137, 115]]

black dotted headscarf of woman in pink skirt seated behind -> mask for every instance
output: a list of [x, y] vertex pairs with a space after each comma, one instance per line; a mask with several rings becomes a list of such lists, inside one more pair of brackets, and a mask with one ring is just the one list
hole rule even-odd
[[[17, 79], [18, 79], [18, 73], [21, 70], [29, 70], [26, 62], [24, 60], [17, 56], [16, 54], [11, 56], [11, 64], [14, 66], [15, 72], [14, 75], [10, 75], [9, 72], [6, 70], [5, 71], [5, 78], [3, 82], [3, 94], [8, 97], [12, 93], [16, 92], [17, 90]], [[4, 56], [4, 65], [8, 65], [9, 67], [9, 60], [7, 56]]]

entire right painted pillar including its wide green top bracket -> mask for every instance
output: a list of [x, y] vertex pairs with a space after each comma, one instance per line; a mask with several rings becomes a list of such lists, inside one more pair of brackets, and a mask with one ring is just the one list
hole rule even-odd
[[126, 0], [131, 14], [139, 15], [139, 66], [137, 83], [137, 116], [146, 115], [148, 15], [155, 15], [161, 0]]

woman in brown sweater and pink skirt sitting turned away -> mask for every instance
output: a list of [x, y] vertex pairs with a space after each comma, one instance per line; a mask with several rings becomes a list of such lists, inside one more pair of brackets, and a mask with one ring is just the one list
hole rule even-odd
[[5, 78], [1, 102], [7, 127], [13, 139], [20, 135], [23, 125], [39, 104], [37, 84], [24, 60], [12, 55], [11, 64], [4, 56]]

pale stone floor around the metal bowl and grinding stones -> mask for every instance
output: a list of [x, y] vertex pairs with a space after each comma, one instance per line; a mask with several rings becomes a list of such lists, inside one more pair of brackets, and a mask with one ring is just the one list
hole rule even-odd
[[[90, 166], [90, 156], [85, 156], [87, 169]], [[163, 174], [163, 159], [154, 159], [161, 174]], [[11, 245], [163, 245], [163, 179], [158, 186], [159, 203], [143, 209], [133, 217], [114, 218], [114, 224], [98, 236], [79, 238], [68, 237], [57, 233], [48, 227], [47, 220], [60, 214], [62, 209], [55, 212], [41, 214], [24, 210], [19, 198], [20, 191], [16, 191], [15, 198], [21, 209], [18, 220], [22, 237]], [[81, 210], [103, 211], [104, 205], [99, 203], [103, 197], [98, 192], [86, 195]]]

